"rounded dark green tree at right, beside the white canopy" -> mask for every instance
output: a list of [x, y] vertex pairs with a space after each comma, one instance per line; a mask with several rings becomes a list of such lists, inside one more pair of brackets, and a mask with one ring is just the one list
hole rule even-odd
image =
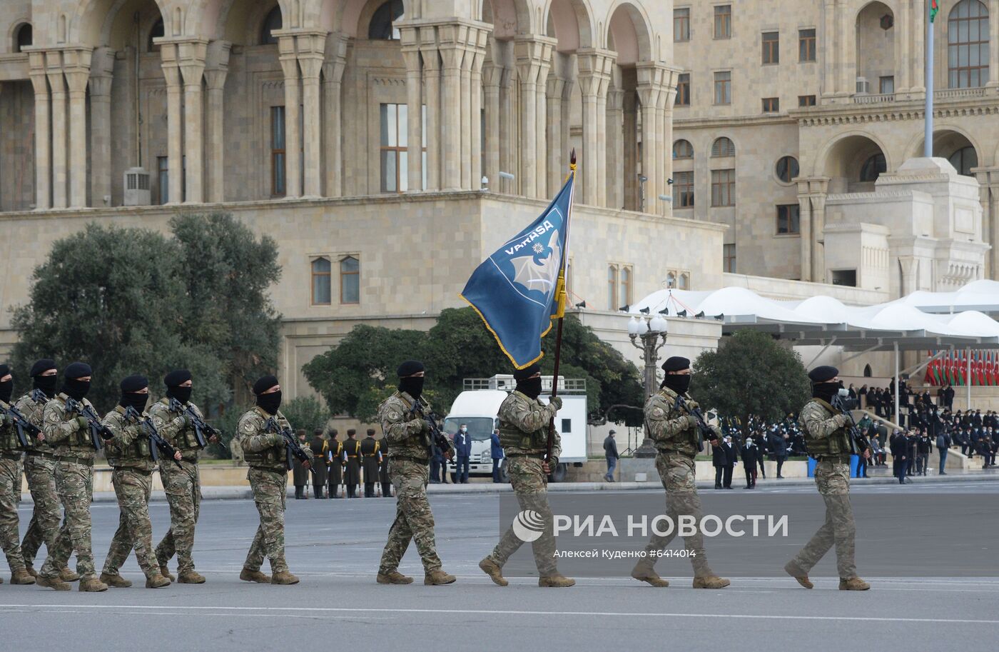
[[722, 416], [749, 415], [778, 421], [808, 400], [808, 375], [801, 357], [772, 337], [743, 330], [704, 351], [694, 363], [691, 393]]

